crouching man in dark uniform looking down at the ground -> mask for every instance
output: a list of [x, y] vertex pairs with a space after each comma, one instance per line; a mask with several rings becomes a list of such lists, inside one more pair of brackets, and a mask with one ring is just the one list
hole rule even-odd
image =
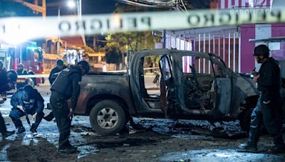
[[[26, 129], [24, 128], [20, 117], [28, 116], [28, 114], [33, 115], [33, 120], [35, 122], [31, 125], [30, 131], [33, 134], [36, 134], [36, 129], [43, 119], [43, 97], [38, 93], [38, 90], [33, 89], [31, 85], [26, 85], [23, 88], [20, 88], [14, 95], [11, 97], [12, 109], [10, 112], [10, 117], [14, 122], [16, 129], [18, 129], [17, 134], [21, 134]], [[29, 120], [27, 117], [29, 124]]]

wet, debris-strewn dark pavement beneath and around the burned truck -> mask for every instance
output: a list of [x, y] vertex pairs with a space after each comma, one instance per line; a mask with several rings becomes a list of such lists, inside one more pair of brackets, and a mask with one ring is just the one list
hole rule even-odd
[[[43, 89], [42, 95], [48, 102], [48, 90]], [[0, 105], [6, 114], [4, 105], [9, 112], [9, 104]], [[14, 130], [11, 119], [4, 118], [7, 128]], [[37, 136], [29, 131], [26, 119], [22, 121], [24, 134], [0, 138], [0, 161], [285, 161], [285, 154], [265, 153], [273, 146], [268, 135], [261, 136], [260, 153], [238, 152], [237, 146], [247, 141], [238, 121], [216, 123], [214, 127], [207, 121], [135, 118], [135, 123], [147, 130], [138, 131], [128, 125], [124, 133], [100, 136], [91, 129], [88, 117], [76, 116], [70, 140], [78, 153], [73, 154], [57, 153], [58, 129], [54, 121], [43, 120]]]

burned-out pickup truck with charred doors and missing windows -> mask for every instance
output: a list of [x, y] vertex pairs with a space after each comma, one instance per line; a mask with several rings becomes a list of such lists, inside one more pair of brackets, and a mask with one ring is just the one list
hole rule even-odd
[[[144, 70], [149, 58], [157, 58], [159, 84]], [[218, 55], [143, 50], [133, 55], [127, 72], [84, 76], [74, 113], [89, 115], [92, 128], [102, 135], [118, 133], [130, 117], [239, 119], [247, 129], [258, 96], [252, 79], [227, 68]]]

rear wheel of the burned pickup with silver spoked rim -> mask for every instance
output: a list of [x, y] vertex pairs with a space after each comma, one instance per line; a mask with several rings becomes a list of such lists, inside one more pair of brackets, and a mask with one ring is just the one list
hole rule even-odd
[[90, 111], [92, 129], [101, 135], [114, 135], [125, 126], [123, 107], [113, 100], [103, 100]]

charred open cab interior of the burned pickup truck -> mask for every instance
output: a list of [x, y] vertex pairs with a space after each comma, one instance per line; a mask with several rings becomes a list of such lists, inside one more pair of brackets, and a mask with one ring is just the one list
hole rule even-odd
[[[208, 58], [179, 55], [180, 61], [174, 63], [172, 57], [177, 56], [147, 55], [140, 59], [138, 85], [148, 106], [167, 115], [207, 115], [214, 109], [224, 109], [220, 112], [226, 114], [230, 82], [222, 59], [212, 54]], [[147, 63], [150, 58], [152, 68]]]

